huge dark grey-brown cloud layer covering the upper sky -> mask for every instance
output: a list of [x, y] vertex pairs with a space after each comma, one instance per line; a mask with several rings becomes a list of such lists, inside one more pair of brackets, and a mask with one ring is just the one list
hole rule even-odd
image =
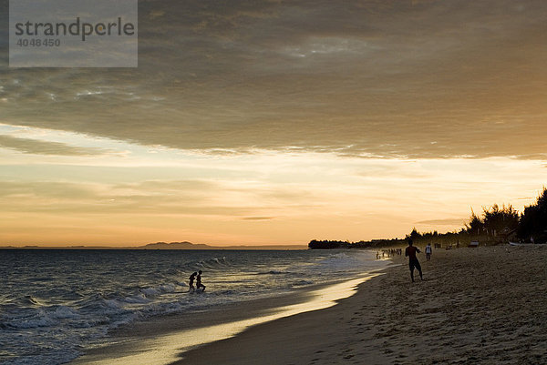
[[210, 153], [544, 158], [546, 11], [142, 1], [139, 68], [9, 69], [3, 123]]

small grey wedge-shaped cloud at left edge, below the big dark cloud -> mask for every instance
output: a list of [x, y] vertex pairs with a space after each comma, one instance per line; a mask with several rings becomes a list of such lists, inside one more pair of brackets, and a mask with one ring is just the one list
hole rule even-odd
[[7, 135], [0, 135], [0, 147], [15, 149], [22, 153], [35, 155], [97, 156], [108, 153], [108, 150], [102, 148], [74, 147], [65, 143]]

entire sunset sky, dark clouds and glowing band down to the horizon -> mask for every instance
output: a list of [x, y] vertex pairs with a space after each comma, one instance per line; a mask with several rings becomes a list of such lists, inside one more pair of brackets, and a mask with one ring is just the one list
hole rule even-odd
[[522, 210], [547, 177], [546, 19], [140, 0], [137, 68], [9, 68], [1, 38], [0, 245], [403, 238]]

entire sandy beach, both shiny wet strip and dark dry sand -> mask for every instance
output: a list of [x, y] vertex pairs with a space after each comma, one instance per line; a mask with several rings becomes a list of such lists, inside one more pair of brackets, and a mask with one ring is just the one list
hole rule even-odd
[[423, 281], [412, 283], [396, 256], [372, 279], [342, 282], [345, 293], [318, 286], [319, 295], [150, 319], [72, 364], [547, 364], [547, 246], [435, 249], [431, 261], [418, 259]]

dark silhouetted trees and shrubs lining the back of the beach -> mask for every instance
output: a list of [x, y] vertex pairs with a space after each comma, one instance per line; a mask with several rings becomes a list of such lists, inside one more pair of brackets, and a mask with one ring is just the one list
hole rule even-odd
[[441, 247], [468, 246], [471, 241], [481, 244], [496, 245], [509, 241], [546, 243], [547, 242], [547, 188], [536, 202], [519, 212], [511, 205], [501, 207], [494, 204], [490, 208], [482, 208], [478, 216], [471, 210], [469, 221], [464, 227], [452, 232], [439, 233], [418, 232], [416, 228], [405, 239], [373, 239], [370, 241], [338, 241], [313, 239], [308, 248], [387, 248], [404, 244], [412, 238], [417, 244], [438, 244]]

